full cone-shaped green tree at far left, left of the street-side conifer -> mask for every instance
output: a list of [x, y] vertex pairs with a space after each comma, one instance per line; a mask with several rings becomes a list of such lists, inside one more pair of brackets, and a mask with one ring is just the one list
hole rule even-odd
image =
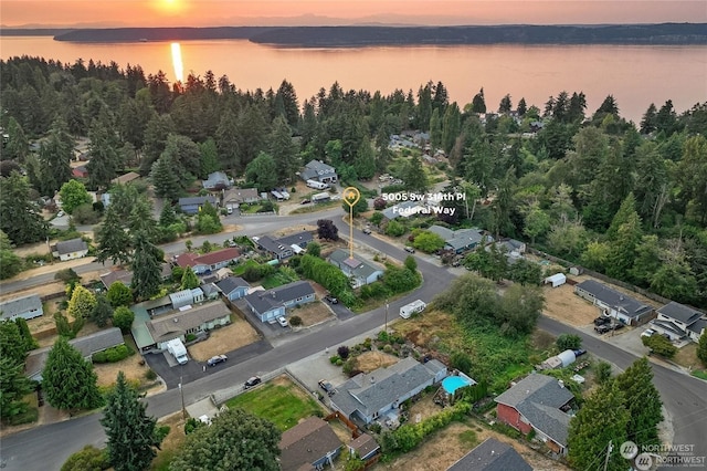
[[98, 407], [103, 398], [96, 381], [91, 362], [86, 362], [66, 338], [59, 337], [42, 371], [42, 389], [49, 404], [62, 410]]

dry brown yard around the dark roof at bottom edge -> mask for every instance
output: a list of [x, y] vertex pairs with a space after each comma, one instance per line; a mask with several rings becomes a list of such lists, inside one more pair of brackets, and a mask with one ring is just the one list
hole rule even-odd
[[471, 420], [468, 425], [451, 423], [443, 430], [432, 435], [420, 448], [390, 463], [377, 464], [373, 470], [442, 471], [490, 437], [513, 446], [536, 471], [569, 471], [569, 468], [545, 458], [521, 443], [516, 443], [506, 436], [487, 430]]

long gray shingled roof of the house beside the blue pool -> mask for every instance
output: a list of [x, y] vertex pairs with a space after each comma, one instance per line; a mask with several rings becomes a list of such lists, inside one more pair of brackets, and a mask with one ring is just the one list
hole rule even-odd
[[360, 411], [371, 416], [434, 378], [434, 371], [407, 357], [388, 368], [361, 373], [337, 387], [331, 402], [347, 416]]

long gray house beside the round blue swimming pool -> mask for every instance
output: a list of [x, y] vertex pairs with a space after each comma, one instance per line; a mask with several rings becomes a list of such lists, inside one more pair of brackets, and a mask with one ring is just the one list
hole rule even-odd
[[407, 357], [388, 368], [361, 373], [336, 388], [331, 407], [347, 418], [365, 425], [395, 409], [407, 399], [435, 385], [447, 375], [446, 367], [436, 359], [425, 364]]

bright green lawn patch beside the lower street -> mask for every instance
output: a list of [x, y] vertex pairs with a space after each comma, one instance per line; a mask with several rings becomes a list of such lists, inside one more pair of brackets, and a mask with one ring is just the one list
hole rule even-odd
[[236, 396], [225, 405], [267, 419], [281, 431], [296, 426], [307, 417], [324, 415], [319, 404], [286, 376], [277, 377], [250, 393]]

